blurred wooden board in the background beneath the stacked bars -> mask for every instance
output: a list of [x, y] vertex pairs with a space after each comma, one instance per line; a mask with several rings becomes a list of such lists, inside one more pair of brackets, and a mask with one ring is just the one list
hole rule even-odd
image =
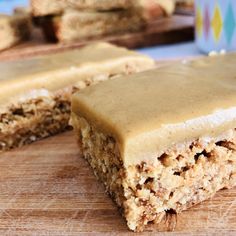
[[56, 53], [63, 50], [79, 48], [86, 44], [102, 40], [127, 48], [153, 46], [167, 43], [177, 43], [193, 40], [194, 17], [174, 15], [150, 22], [148, 27], [136, 33], [126, 33], [112, 37], [96, 38], [71, 44], [48, 43], [43, 38], [40, 29], [35, 29], [32, 40], [16, 47], [0, 52], [0, 61], [15, 60], [47, 53]]

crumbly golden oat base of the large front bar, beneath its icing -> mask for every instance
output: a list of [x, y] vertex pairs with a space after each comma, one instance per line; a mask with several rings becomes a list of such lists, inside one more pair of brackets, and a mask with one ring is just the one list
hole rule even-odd
[[180, 213], [236, 185], [236, 129], [173, 146], [157, 155], [154, 164], [144, 161], [125, 167], [112, 136], [84, 118], [72, 120], [84, 158], [131, 230], [143, 231], [149, 222], [159, 223], [169, 210]]

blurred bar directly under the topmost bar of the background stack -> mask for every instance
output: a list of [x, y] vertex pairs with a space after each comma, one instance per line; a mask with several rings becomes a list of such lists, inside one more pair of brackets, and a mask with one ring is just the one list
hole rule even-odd
[[47, 38], [60, 42], [82, 41], [133, 32], [145, 26], [142, 17], [134, 11], [83, 12], [67, 10], [62, 16], [42, 19]]

